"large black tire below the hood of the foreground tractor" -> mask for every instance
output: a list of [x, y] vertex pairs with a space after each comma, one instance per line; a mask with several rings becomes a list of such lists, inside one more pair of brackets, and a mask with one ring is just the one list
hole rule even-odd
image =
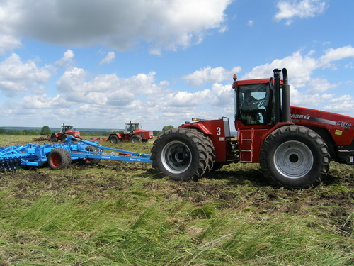
[[329, 150], [324, 140], [304, 126], [283, 126], [267, 138], [259, 157], [265, 177], [281, 187], [314, 187], [329, 170]]

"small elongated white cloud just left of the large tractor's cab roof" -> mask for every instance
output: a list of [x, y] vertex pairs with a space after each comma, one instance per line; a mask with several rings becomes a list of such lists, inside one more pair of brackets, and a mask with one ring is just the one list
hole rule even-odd
[[224, 80], [232, 81], [233, 74], [241, 71], [241, 67], [233, 67], [232, 70], [225, 70], [224, 67], [210, 66], [204, 67], [202, 70], [197, 70], [192, 74], [188, 74], [183, 79], [192, 85], [200, 86], [205, 83], [223, 82]]

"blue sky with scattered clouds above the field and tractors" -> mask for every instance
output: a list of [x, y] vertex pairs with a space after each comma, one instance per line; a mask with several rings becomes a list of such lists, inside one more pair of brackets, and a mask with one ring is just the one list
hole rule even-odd
[[0, 126], [233, 121], [232, 75], [354, 116], [353, 0], [1, 0]]

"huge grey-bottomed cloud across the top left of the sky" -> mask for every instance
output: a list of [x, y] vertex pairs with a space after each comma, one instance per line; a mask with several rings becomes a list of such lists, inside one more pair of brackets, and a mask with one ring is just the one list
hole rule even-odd
[[[127, 50], [140, 42], [152, 53], [198, 44], [224, 28], [232, 0], [4, 0], [0, 34], [58, 45], [108, 45]], [[103, 19], [104, 18], [104, 19]], [[18, 45], [18, 43], [15, 43]], [[7, 45], [10, 47], [11, 45]]]

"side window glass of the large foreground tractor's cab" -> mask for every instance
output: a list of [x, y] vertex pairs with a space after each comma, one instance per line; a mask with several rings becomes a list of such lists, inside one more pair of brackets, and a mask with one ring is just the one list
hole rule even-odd
[[235, 90], [236, 119], [245, 125], [266, 123], [269, 103], [268, 84], [241, 85]]

